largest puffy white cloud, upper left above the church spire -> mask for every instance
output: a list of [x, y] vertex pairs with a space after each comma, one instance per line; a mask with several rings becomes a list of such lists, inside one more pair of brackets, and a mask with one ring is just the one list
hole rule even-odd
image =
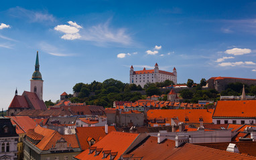
[[74, 40], [80, 39], [81, 35], [78, 33], [82, 27], [75, 22], [68, 21], [70, 25], [57, 25], [54, 30], [65, 33], [62, 35], [62, 39]]

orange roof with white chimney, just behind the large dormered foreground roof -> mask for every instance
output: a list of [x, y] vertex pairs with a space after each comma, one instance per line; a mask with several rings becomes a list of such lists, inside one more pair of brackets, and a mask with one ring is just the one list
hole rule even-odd
[[[114, 126], [109, 126], [108, 132], [116, 131]], [[86, 150], [90, 147], [87, 139], [92, 137], [96, 143], [107, 134], [105, 133], [105, 127], [76, 127], [76, 135], [80, 142], [82, 150]]]

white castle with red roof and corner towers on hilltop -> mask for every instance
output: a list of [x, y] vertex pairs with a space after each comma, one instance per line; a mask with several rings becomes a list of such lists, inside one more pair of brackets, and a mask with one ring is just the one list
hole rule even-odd
[[133, 66], [130, 68], [130, 84], [141, 85], [144, 87], [146, 83], [164, 82], [167, 79], [177, 84], [177, 71], [174, 67], [173, 72], [161, 71], [155, 63], [154, 69], [146, 70], [145, 67], [142, 71], [134, 71]]

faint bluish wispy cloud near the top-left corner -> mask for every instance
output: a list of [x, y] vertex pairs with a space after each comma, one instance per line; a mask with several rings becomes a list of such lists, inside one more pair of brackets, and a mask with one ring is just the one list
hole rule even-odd
[[47, 13], [47, 11], [31, 11], [22, 7], [14, 7], [9, 9], [8, 13], [13, 17], [26, 18], [30, 23], [56, 21], [55, 17]]

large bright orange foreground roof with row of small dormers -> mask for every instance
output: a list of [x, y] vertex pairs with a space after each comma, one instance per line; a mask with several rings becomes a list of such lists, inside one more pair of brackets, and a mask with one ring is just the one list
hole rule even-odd
[[[135, 141], [135, 139], [137, 139], [138, 136], [139, 134], [135, 134], [135, 133], [123, 133], [123, 132], [112, 131], [111, 133], [103, 137], [101, 141], [93, 145], [93, 149], [101, 149], [101, 148], [103, 149], [101, 153], [99, 153], [99, 155], [94, 156], [95, 151], [89, 154], [90, 149], [86, 149], [86, 151], [83, 151], [79, 155], [76, 155], [75, 158], [81, 159], [81, 160], [82, 159], [86, 159], [86, 160], [87, 159], [90, 159], [90, 160], [103, 159], [103, 152], [105, 153], [117, 152], [117, 155], [115, 157], [115, 160], [117, 160], [121, 155], [123, 155], [123, 153], [125, 153], [125, 151], [131, 146], [131, 144]], [[109, 159], [109, 157], [107, 157], [107, 159]]]

